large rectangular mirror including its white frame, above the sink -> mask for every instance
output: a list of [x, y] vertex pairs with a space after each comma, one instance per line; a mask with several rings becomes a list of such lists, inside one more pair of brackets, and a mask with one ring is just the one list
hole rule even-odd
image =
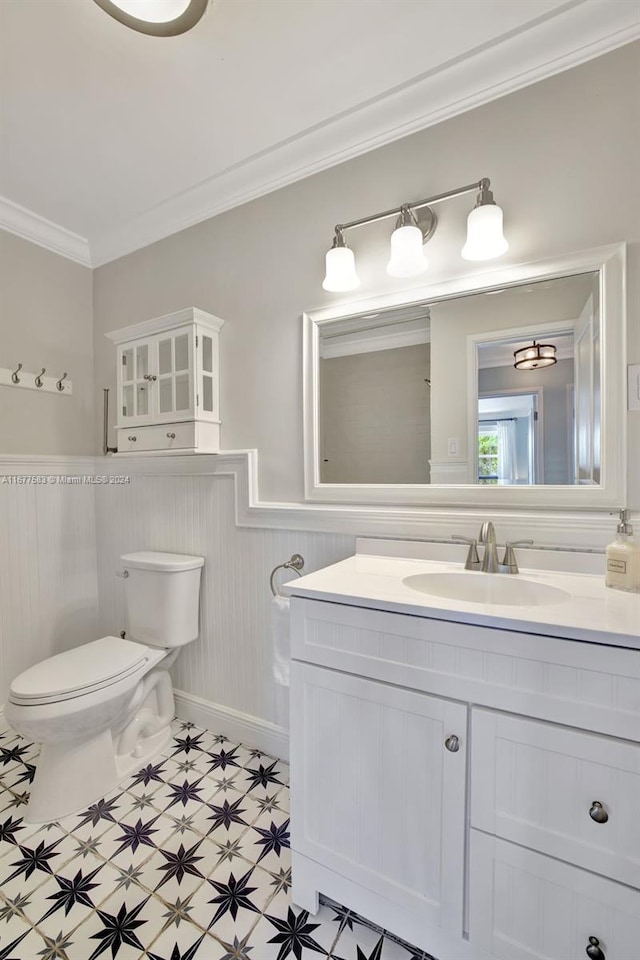
[[309, 500], [615, 507], [624, 245], [304, 315]]

